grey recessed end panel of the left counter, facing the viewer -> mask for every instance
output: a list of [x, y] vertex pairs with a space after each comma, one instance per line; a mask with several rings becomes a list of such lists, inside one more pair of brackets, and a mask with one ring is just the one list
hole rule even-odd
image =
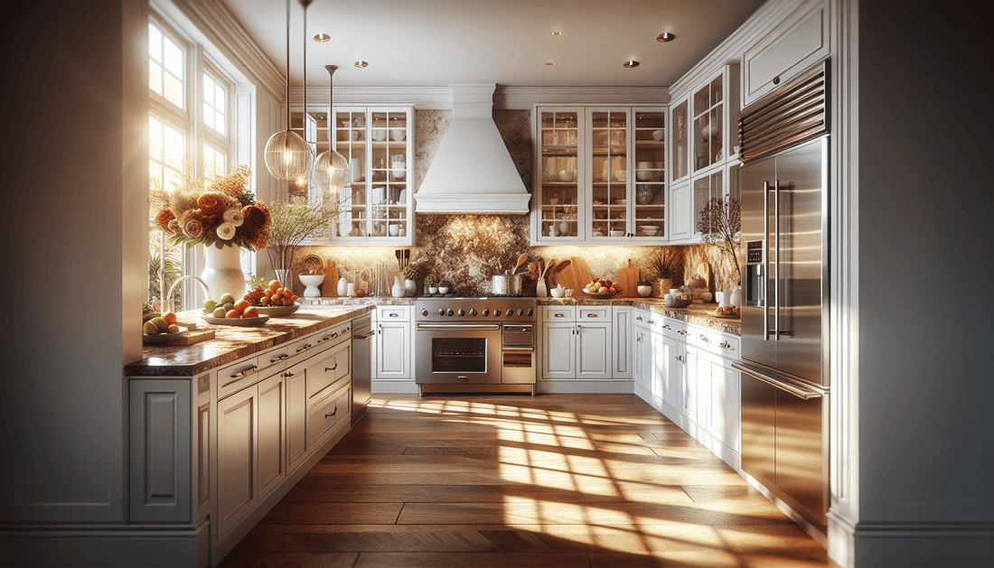
[[130, 520], [190, 522], [189, 380], [131, 380]]

